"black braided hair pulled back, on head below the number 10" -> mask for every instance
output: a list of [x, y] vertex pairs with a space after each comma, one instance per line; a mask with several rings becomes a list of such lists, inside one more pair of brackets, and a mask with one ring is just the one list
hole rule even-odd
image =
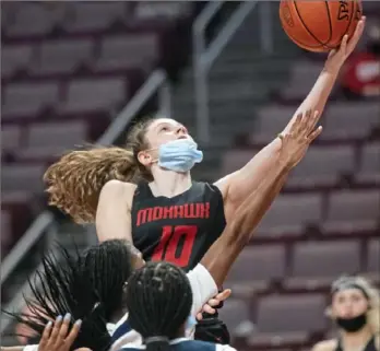
[[192, 291], [185, 271], [169, 262], [149, 262], [128, 280], [127, 307], [131, 327], [146, 351], [166, 351], [190, 314]]

